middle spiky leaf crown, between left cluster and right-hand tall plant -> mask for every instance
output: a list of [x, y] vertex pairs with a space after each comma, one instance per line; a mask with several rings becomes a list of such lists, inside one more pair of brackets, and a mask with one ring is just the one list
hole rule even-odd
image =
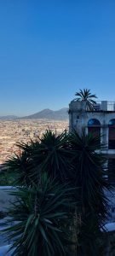
[[33, 160], [38, 163], [40, 172], [47, 172], [49, 177], [57, 178], [63, 183], [67, 179], [70, 154], [66, 131], [55, 136], [52, 131], [47, 130], [43, 134], [40, 147], [34, 152]]

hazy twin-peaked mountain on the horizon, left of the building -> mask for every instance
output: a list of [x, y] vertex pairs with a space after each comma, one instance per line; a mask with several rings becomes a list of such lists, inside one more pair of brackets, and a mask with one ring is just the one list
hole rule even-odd
[[66, 120], [68, 119], [68, 108], [61, 108], [60, 110], [51, 110], [49, 108], [43, 109], [40, 112], [33, 113], [21, 119], [55, 119]]

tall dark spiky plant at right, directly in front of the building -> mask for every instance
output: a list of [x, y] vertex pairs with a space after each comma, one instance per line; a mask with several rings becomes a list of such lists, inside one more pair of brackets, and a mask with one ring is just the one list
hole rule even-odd
[[105, 159], [98, 153], [100, 137], [86, 135], [84, 131], [80, 137], [73, 131], [69, 140], [73, 154], [71, 179], [77, 188], [77, 216], [81, 219], [77, 235], [78, 255], [100, 255], [96, 241], [107, 218], [108, 201], [104, 190], [109, 189], [104, 179]]

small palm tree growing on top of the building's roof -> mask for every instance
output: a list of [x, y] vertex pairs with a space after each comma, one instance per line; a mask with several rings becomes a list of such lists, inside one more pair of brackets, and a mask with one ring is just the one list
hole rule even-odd
[[94, 105], [96, 104], [94, 99], [97, 98], [97, 96], [95, 96], [95, 94], [91, 94], [90, 90], [80, 89], [79, 92], [76, 92], [75, 96], [77, 96], [76, 100], [78, 102], [85, 102], [86, 110], [94, 109]]

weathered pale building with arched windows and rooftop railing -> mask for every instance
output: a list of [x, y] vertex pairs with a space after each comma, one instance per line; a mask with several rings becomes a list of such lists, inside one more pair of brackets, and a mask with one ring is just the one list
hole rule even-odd
[[93, 110], [88, 110], [86, 102], [73, 100], [69, 104], [69, 130], [82, 130], [101, 137], [105, 147], [101, 151], [106, 155], [107, 177], [115, 183], [115, 102], [97, 102]]

